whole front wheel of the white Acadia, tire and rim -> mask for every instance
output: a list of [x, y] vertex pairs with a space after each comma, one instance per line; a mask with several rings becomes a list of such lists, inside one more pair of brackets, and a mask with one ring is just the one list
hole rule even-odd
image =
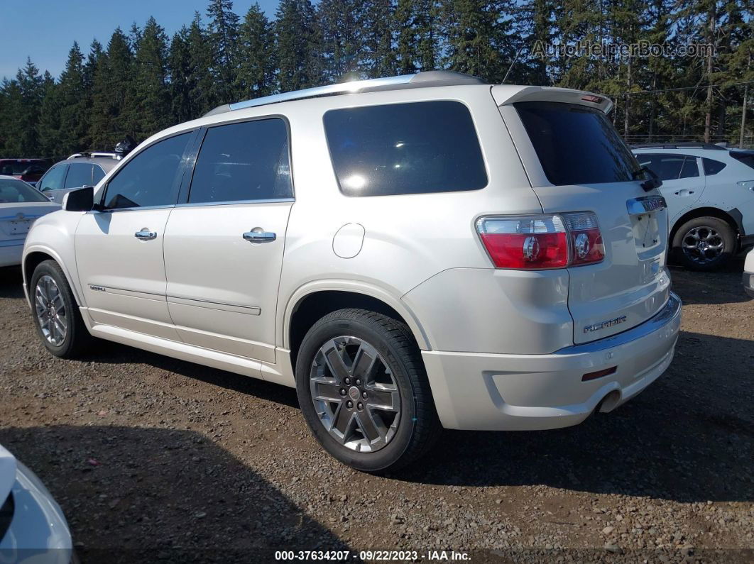
[[42, 261], [29, 284], [34, 327], [45, 349], [60, 358], [78, 358], [93, 337], [60, 265]]

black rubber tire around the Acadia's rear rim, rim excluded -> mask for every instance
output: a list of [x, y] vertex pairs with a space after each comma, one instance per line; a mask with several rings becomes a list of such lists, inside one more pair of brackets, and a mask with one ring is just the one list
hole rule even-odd
[[[342, 311], [354, 312], [357, 310]], [[409, 376], [409, 372], [412, 368], [415, 368], [413, 363], [416, 362], [416, 358], [406, 355], [406, 350], [401, 347], [401, 345], [405, 345], [403, 339], [399, 339], [397, 342], [394, 335], [383, 334], [383, 331], [375, 328], [375, 325], [370, 323], [369, 319], [332, 316], [333, 314], [330, 314], [330, 316], [321, 319], [308, 331], [297, 357], [296, 392], [306, 422], [320, 445], [329, 454], [352, 468], [366, 472], [385, 472], [400, 468], [412, 462], [415, 458], [409, 455], [407, 459], [404, 459], [404, 456], [408, 455], [409, 450], [416, 450], [417, 445], [412, 445], [416, 440], [414, 436], [415, 426], [419, 417], [426, 416], [425, 413], [421, 413], [422, 410], [418, 407], [415, 386]], [[326, 340], [341, 336], [358, 337], [374, 346], [393, 370], [394, 378], [400, 390], [401, 413], [396, 434], [385, 447], [374, 453], [357, 453], [339, 444], [320, 422], [311, 401], [309, 370], [314, 355]], [[418, 354], [418, 349], [415, 353]], [[412, 449], [412, 447], [414, 448]]]

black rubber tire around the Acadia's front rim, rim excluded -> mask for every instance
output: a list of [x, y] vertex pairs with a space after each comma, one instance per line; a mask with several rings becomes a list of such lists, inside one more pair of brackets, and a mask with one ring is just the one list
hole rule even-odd
[[[53, 343], [50, 343], [44, 337], [44, 334], [42, 334], [34, 305], [37, 282], [45, 274], [51, 276], [52, 279], [55, 280], [69, 318], [66, 337], [63, 339], [63, 343], [61, 343], [60, 346], [55, 346]], [[81, 312], [78, 311], [75, 297], [73, 297], [71, 287], [68, 284], [66, 275], [63, 274], [63, 270], [60, 269], [60, 265], [55, 261], [42, 261], [37, 265], [34, 269], [34, 273], [32, 273], [32, 278], [29, 283], [29, 298], [32, 303], [32, 322], [34, 323], [34, 327], [41, 343], [44, 345], [44, 348], [48, 349], [51, 354], [59, 356], [60, 358], [75, 358], [78, 356], [81, 349], [84, 348], [84, 344], [88, 343], [91, 337], [81, 319]]]

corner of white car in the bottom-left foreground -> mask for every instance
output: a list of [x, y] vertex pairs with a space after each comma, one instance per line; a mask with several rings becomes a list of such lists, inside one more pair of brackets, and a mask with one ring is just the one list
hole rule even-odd
[[60, 505], [38, 477], [0, 446], [0, 562], [77, 562]]

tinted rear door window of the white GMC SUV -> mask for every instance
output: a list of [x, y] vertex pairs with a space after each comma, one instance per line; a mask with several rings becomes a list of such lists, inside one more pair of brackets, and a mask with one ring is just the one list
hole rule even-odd
[[210, 127], [194, 169], [189, 203], [280, 200], [293, 197], [284, 120]]

